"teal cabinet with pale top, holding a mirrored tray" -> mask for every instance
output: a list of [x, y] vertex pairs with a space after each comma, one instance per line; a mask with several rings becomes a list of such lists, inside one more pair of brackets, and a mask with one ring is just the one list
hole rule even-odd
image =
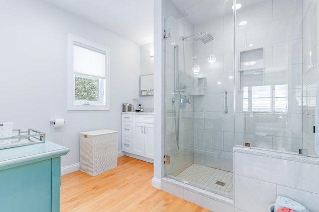
[[50, 141], [0, 149], [0, 212], [59, 212], [61, 156], [68, 152]]

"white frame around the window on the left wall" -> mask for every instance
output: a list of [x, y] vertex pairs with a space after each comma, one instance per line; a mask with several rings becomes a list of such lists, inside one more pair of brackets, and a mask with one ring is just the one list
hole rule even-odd
[[[83, 104], [83, 101], [75, 100], [74, 43], [81, 43], [105, 52], [105, 79], [104, 83], [99, 83], [99, 91], [103, 93], [100, 102], [89, 101], [89, 104]], [[67, 110], [110, 110], [110, 49], [71, 34], [68, 34]]]

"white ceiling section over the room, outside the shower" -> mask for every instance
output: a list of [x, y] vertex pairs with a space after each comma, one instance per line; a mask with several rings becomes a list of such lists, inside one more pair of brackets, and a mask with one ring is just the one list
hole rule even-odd
[[44, 0], [140, 46], [154, 41], [154, 0]]

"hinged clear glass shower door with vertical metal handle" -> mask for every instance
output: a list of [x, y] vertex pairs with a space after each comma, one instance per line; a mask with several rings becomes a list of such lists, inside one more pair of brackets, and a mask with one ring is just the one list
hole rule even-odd
[[232, 1], [165, 5], [165, 176], [232, 198]]

